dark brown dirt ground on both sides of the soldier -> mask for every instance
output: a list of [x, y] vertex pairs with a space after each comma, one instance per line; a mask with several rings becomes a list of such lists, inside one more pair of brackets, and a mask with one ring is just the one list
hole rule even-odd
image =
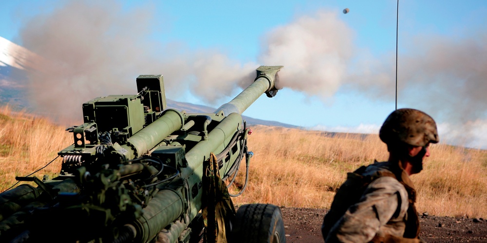
[[[287, 243], [320, 243], [325, 209], [281, 208]], [[423, 215], [421, 238], [429, 243], [487, 242], [487, 220]]]

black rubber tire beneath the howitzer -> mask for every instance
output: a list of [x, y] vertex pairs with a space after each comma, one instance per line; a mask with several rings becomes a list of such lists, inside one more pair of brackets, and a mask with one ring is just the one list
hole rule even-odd
[[272, 204], [246, 204], [232, 223], [232, 241], [237, 243], [285, 243], [281, 209]]

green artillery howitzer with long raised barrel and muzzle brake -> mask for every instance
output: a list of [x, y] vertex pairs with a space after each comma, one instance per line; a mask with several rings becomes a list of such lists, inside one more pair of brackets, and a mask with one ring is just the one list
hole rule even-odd
[[[74, 144], [58, 153], [59, 175], [16, 177], [37, 188], [0, 194], [0, 242], [198, 242], [203, 163], [216, 155], [230, 183], [243, 159], [248, 169], [241, 114], [262, 93], [276, 94], [281, 67], [259, 67], [249, 87], [209, 114], [166, 109], [162, 75], [140, 75], [136, 95], [83, 104], [84, 124], [68, 129]], [[285, 241], [273, 205], [244, 205], [230, 225], [234, 241]]]

